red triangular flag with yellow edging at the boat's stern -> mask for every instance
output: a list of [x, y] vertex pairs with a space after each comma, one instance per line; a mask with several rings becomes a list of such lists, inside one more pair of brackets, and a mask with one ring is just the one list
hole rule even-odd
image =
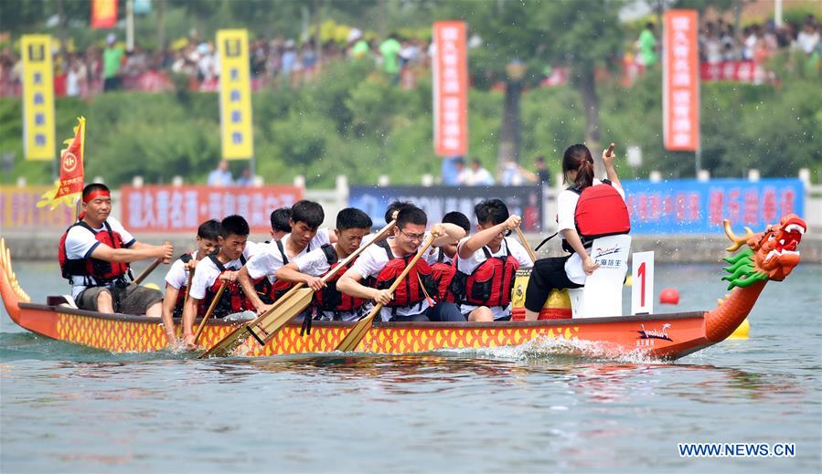
[[74, 127], [74, 138], [64, 143], [69, 145], [60, 152], [60, 179], [55, 188], [47, 191], [37, 202], [37, 207], [51, 205], [54, 209], [60, 203], [74, 205], [83, 191], [83, 152], [86, 135], [86, 119], [79, 117]]

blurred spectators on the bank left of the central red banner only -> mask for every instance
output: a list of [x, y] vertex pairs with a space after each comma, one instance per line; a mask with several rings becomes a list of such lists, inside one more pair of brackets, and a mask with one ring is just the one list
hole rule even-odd
[[[219, 87], [219, 52], [212, 41], [197, 38], [196, 32], [176, 42], [176, 47], [147, 51], [134, 47], [125, 51], [122, 41], [110, 34], [105, 47], [65, 55], [55, 51], [55, 82], [59, 95], [89, 96], [117, 89], [170, 90], [172, 78], [187, 80], [192, 90], [211, 91]], [[428, 64], [430, 44], [391, 35], [384, 40], [366, 39], [352, 29], [344, 45], [328, 41], [317, 47], [314, 38], [297, 42], [293, 38], [252, 39], [249, 62], [252, 87], [265, 84], [299, 86], [315, 79], [330, 61], [344, 58], [373, 60], [377, 67], [399, 83], [401, 72]], [[0, 95], [18, 95], [22, 61], [6, 47], [0, 52]]]

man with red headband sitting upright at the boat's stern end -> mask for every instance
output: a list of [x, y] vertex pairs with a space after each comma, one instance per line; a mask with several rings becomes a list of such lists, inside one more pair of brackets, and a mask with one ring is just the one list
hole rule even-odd
[[105, 184], [83, 188], [80, 220], [59, 243], [60, 270], [71, 283], [71, 296], [81, 310], [159, 318], [163, 293], [131, 285], [125, 276], [131, 274], [129, 263], [137, 260], [157, 258], [168, 263], [174, 248], [168, 242], [161, 246], [137, 242], [111, 213], [112, 193]]

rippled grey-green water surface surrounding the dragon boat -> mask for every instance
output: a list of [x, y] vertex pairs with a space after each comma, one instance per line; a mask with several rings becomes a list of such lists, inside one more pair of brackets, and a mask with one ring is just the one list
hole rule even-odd
[[[657, 295], [681, 293], [657, 311], [713, 307], [720, 267], [657, 265]], [[34, 300], [68, 291], [55, 265], [16, 270]], [[0, 470], [819, 472], [820, 281], [800, 265], [763, 291], [750, 340], [676, 363], [559, 342], [198, 361], [50, 341], [4, 312]], [[796, 456], [679, 458], [689, 441], [789, 442]]]

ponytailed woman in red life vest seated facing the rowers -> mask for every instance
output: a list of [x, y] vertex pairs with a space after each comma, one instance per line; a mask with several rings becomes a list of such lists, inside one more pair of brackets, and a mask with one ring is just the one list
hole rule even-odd
[[[548, 298], [550, 290], [581, 288], [585, 278], [591, 275], [599, 264], [591, 258], [593, 237], [582, 236], [578, 232], [580, 224], [592, 223], [596, 228], [613, 227], [612, 232], [601, 235], [626, 233], [627, 212], [615, 212], [625, 208], [625, 191], [614, 169], [614, 144], [603, 150], [603, 162], [608, 178], [600, 181], [593, 177], [591, 151], [583, 144], [568, 147], [562, 156], [562, 174], [567, 189], [557, 196], [557, 230], [562, 237], [562, 248], [571, 252], [566, 257], [540, 258], [534, 264], [525, 296], [525, 319], [534, 321]], [[600, 188], [604, 185], [607, 187]], [[597, 189], [594, 189], [597, 188]], [[590, 197], [589, 197], [590, 196]], [[584, 213], [580, 213], [584, 210]], [[579, 222], [579, 218], [587, 222]], [[625, 222], [623, 222], [625, 221]]]

